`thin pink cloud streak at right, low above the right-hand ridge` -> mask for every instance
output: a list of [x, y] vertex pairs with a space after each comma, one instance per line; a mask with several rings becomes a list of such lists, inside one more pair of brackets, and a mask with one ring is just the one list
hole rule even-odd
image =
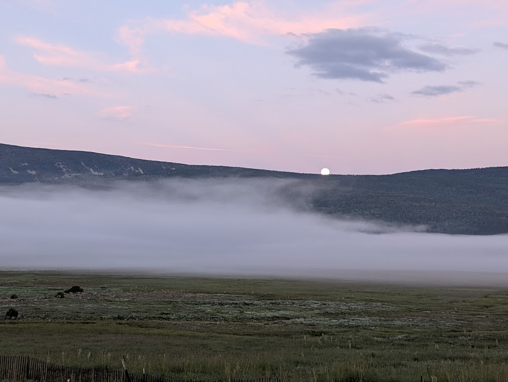
[[473, 116], [444, 117], [435, 119], [413, 119], [400, 123], [395, 128], [410, 128], [420, 131], [436, 131], [455, 127], [499, 126], [505, 121], [495, 118], [478, 118]]

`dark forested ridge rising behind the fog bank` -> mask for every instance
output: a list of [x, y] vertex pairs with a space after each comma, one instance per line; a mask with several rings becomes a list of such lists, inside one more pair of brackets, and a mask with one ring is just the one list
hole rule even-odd
[[0, 144], [0, 185], [40, 182], [93, 186], [106, 179], [174, 177], [293, 179], [296, 182], [280, 192], [295, 206], [314, 212], [424, 225], [430, 232], [508, 233], [508, 167], [323, 177]]

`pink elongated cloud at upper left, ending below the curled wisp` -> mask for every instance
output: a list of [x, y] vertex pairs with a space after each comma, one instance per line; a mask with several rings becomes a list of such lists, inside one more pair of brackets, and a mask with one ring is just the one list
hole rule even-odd
[[17, 37], [14, 41], [34, 49], [34, 58], [44, 65], [77, 66], [101, 72], [146, 73], [151, 71], [149, 65], [140, 58], [110, 64], [105, 63], [97, 54], [77, 51], [63, 44], [51, 44], [32, 37]]

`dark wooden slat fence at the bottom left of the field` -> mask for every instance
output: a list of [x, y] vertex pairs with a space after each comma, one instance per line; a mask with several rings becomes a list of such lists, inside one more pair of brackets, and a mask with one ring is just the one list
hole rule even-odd
[[[61, 366], [27, 356], [0, 356], [0, 381], [14, 382], [183, 382], [146, 374], [128, 374], [123, 370], [83, 369]], [[282, 382], [279, 378], [228, 379], [230, 382]], [[190, 380], [186, 382], [201, 382]], [[222, 381], [215, 381], [222, 382]]]

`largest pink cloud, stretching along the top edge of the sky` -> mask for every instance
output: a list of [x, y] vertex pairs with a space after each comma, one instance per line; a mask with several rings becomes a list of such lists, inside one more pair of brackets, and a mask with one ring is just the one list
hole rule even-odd
[[[350, 5], [357, 3], [350, 2]], [[288, 17], [267, 8], [259, 0], [237, 1], [221, 6], [203, 5], [195, 10], [185, 9], [186, 17], [183, 19], [148, 19], [124, 25], [118, 30], [118, 41], [129, 46], [134, 54], [141, 50], [145, 36], [157, 31], [205, 34], [249, 44], [263, 44], [273, 36], [319, 32], [327, 28], [350, 28], [365, 22], [365, 16], [347, 15], [345, 6], [334, 11], [342, 16], [333, 17], [322, 10], [315, 14]]]

